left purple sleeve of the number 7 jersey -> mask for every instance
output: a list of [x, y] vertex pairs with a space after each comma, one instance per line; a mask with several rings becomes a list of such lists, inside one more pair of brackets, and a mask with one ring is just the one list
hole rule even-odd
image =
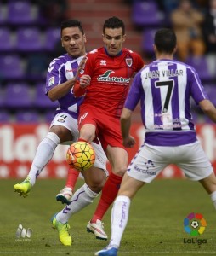
[[144, 93], [141, 84], [141, 73], [139, 72], [134, 77], [133, 83], [128, 92], [126, 102], [124, 104], [124, 108], [128, 108], [129, 110], [134, 111], [140, 100], [141, 95], [143, 95]]

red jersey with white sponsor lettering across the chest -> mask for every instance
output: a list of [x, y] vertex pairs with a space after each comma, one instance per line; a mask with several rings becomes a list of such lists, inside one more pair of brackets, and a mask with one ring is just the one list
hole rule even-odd
[[117, 56], [107, 55], [105, 48], [94, 49], [87, 55], [83, 74], [91, 77], [91, 84], [82, 90], [74, 86], [75, 96], [86, 93], [82, 105], [93, 105], [107, 114], [120, 117], [128, 95], [130, 79], [144, 67], [144, 61], [135, 52], [122, 49]]

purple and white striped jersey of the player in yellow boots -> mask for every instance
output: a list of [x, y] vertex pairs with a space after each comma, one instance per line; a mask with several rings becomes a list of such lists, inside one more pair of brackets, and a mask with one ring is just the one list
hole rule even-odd
[[[45, 93], [48, 94], [48, 90], [54, 88], [54, 86], [72, 79], [77, 72], [77, 67], [79, 66], [80, 61], [82, 61], [82, 56], [73, 59], [68, 54], [60, 55], [60, 57], [51, 61], [48, 67]], [[76, 98], [72, 91], [70, 91], [58, 100], [60, 106], [56, 108], [55, 113], [70, 113], [73, 118], [77, 119], [79, 106], [82, 103], [82, 100], [83, 97]]]

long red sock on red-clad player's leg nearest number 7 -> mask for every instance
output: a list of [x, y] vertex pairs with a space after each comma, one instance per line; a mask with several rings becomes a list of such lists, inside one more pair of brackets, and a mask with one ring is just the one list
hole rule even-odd
[[110, 176], [107, 179], [104, 188], [102, 189], [99, 204], [96, 208], [96, 211], [94, 212], [94, 216], [91, 219], [91, 222], [95, 223], [97, 219], [101, 220], [104, 217], [105, 212], [109, 209], [117, 196], [121, 182], [122, 177], [117, 176], [112, 172], [110, 173]]

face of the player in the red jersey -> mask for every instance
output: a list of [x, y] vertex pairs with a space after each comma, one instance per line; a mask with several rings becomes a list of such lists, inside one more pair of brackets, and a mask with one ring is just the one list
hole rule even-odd
[[111, 56], [116, 56], [122, 50], [122, 44], [125, 41], [126, 35], [122, 34], [122, 27], [119, 28], [105, 28], [103, 34], [103, 41], [105, 49]]

